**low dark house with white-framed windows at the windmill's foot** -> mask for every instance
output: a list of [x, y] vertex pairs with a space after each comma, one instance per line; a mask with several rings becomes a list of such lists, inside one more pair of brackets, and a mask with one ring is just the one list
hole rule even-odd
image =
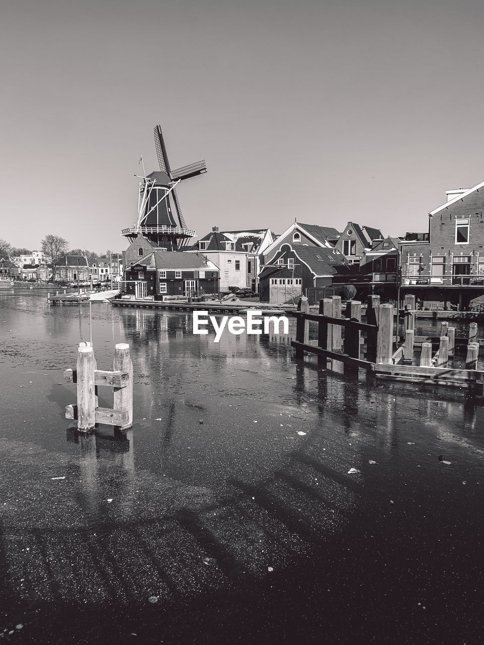
[[137, 299], [219, 291], [219, 269], [201, 253], [151, 250], [125, 268], [123, 293]]

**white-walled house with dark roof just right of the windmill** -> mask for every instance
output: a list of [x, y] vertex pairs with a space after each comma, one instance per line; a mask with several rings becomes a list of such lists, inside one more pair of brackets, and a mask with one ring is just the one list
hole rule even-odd
[[185, 252], [201, 252], [219, 267], [221, 291], [237, 286], [251, 288], [257, 293], [260, 256], [272, 242], [272, 233], [268, 228], [219, 231], [214, 226], [210, 233], [185, 249]]

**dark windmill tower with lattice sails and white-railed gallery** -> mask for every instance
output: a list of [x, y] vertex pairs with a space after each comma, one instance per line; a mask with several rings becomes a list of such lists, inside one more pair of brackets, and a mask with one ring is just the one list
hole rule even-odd
[[187, 228], [185, 224], [176, 186], [185, 179], [207, 172], [207, 166], [205, 160], [202, 160], [172, 170], [159, 125], [154, 129], [154, 135], [159, 171], [143, 177], [143, 181], [139, 183], [136, 226], [125, 228], [121, 235], [125, 235], [130, 243], [137, 235], [143, 235], [159, 248], [177, 251], [187, 246], [195, 231]]

